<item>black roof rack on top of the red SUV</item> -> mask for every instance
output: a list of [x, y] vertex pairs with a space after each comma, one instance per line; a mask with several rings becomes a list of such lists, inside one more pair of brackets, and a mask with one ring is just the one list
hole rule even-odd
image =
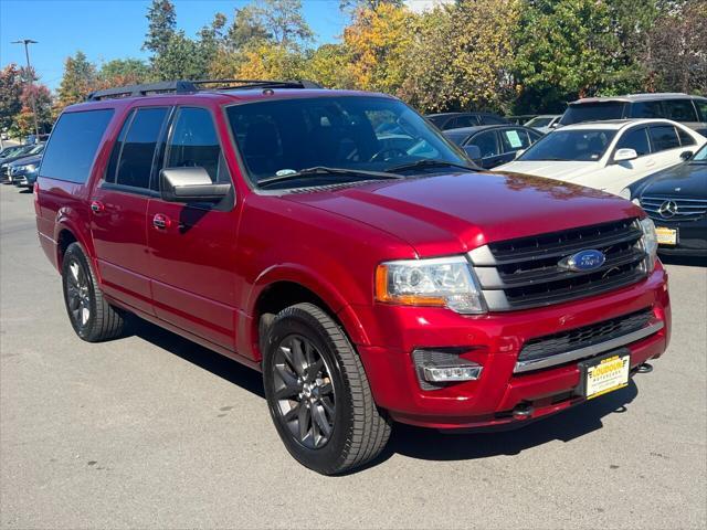
[[236, 91], [249, 88], [324, 88], [312, 81], [265, 81], [265, 80], [201, 80], [162, 81], [143, 85], [119, 86], [88, 94], [86, 100], [97, 102], [119, 97], [139, 97], [154, 94], [193, 94], [199, 91]]

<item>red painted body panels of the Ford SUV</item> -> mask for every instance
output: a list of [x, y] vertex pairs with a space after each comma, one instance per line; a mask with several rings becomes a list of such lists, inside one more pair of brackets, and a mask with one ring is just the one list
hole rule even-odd
[[[381, 305], [373, 273], [384, 261], [463, 254], [489, 242], [643, 215], [627, 201], [546, 179], [447, 174], [359, 184], [336, 191], [260, 193], [241, 171], [223, 106], [263, 97], [327, 97], [340, 92], [262, 91], [162, 95], [77, 105], [115, 108], [86, 184], [38, 179], [40, 242], [61, 268], [63, 231], [91, 256], [102, 288], [120, 307], [257, 368], [256, 311], [274, 284], [318, 296], [362, 359], [379, 406], [403, 422], [434, 427], [495, 425], [519, 403], [534, 417], [571, 406], [556, 402], [579, 382], [576, 363], [524, 375], [513, 370], [524, 342], [651, 307], [665, 322], [631, 344], [632, 364], [658, 357], [671, 329], [667, 278], [658, 264], [645, 280], [609, 294], [531, 310], [463, 316], [447, 309]], [[355, 96], [357, 93], [348, 93]], [[125, 116], [135, 106], [211, 110], [234, 189], [229, 211], [204, 211], [101, 187]], [[92, 212], [92, 201], [104, 210]], [[152, 225], [155, 215], [168, 221]], [[412, 350], [465, 347], [484, 367], [478, 381], [437, 391], [418, 382]]]

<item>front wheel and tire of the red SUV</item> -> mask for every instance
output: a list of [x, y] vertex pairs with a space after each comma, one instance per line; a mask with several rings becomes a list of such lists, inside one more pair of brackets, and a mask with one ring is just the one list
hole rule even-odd
[[337, 322], [313, 304], [281, 311], [263, 359], [267, 404], [287, 451], [323, 475], [376, 458], [390, 437], [361, 361]]

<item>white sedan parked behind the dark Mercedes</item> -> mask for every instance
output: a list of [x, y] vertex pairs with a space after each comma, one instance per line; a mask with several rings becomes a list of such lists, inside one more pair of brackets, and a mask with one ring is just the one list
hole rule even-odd
[[668, 119], [568, 125], [494, 169], [535, 174], [619, 194], [629, 184], [692, 156], [707, 138]]

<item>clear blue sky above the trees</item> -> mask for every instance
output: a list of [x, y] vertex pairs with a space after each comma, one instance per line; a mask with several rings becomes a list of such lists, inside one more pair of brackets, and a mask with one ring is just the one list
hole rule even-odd
[[[173, 0], [177, 26], [187, 35], [213, 19], [218, 11], [231, 18], [244, 0]], [[149, 0], [0, 0], [0, 65], [24, 65], [24, 46], [11, 44], [32, 39], [32, 66], [40, 81], [55, 89], [63, 63], [77, 50], [101, 64], [113, 59], [147, 59], [140, 50], [147, 31], [145, 14]], [[304, 0], [303, 12], [316, 33], [316, 43], [334, 42], [341, 34], [346, 19], [339, 0]]]

